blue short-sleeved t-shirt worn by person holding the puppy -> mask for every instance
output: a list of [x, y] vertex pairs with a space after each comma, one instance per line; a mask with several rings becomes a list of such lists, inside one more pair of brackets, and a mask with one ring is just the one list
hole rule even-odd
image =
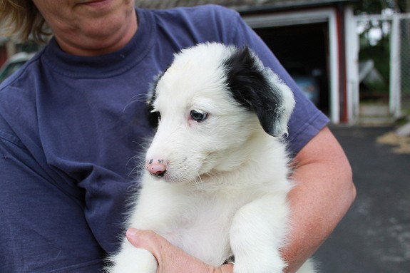
[[104, 56], [72, 56], [55, 39], [0, 86], [0, 272], [98, 272], [123, 230], [151, 135], [145, 93], [181, 48], [248, 45], [295, 92], [289, 150], [329, 121], [304, 98], [260, 38], [232, 10], [136, 9], [138, 31]]

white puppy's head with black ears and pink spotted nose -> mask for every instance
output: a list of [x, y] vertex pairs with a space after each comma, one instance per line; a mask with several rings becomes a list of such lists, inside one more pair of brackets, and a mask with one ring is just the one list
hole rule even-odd
[[287, 134], [294, 98], [249, 48], [204, 43], [175, 55], [148, 103], [158, 130], [147, 170], [170, 182], [193, 182], [240, 165], [240, 151], [255, 133]]

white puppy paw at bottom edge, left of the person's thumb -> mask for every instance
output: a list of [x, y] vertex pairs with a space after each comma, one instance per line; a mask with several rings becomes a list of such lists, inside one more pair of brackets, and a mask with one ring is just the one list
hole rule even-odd
[[145, 249], [127, 248], [111, 258], [112, 267], [106, 269], [107, 273], [155, 273], [157, 260]]

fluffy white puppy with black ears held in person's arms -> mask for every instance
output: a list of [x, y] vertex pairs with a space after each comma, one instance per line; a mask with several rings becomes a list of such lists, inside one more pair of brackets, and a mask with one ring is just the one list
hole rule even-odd
[[[159, 117], [127, 227], [153, 230], [207, 264], [279, 273], [287, 237], [292, 91], [249, 48], [203, 43], [175, 54], [149, 101]], [[155, 273], [123, 240], [112, 273]], [[314, 272], [306, 263], [299, 272]]]

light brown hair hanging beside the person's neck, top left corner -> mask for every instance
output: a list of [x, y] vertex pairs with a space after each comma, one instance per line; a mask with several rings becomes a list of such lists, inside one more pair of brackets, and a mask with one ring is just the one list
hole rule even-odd
[[0, 0], [1, 35], [46, 43], [51, 32], [31, 0]]

